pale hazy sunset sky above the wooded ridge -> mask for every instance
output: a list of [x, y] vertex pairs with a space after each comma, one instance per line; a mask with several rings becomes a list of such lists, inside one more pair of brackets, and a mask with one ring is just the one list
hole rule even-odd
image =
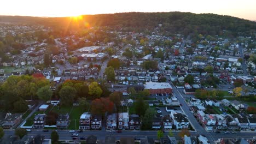
[[256, 0], [3, 0], [0, 15], [59, 17], [131, 11], [214, 13], [256, 20]]

